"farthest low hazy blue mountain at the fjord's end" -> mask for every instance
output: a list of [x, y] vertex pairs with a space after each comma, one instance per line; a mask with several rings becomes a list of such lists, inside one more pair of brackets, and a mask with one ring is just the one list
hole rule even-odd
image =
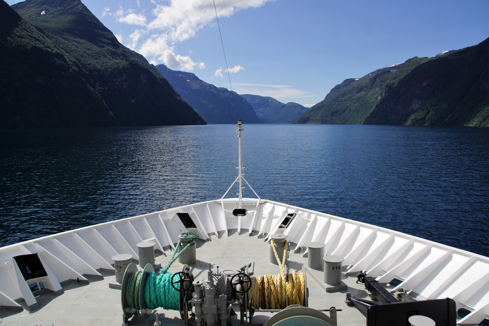
[[289, 123], [308, 108], [294, 102], [282, 103], [269, 96], [241, 94], [263, 123]]

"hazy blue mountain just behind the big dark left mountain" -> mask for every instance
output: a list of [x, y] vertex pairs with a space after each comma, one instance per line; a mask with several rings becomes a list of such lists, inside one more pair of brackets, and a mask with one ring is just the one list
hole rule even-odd
[[156, 69], [207, 123], [235, 124], [236, 110], [243, 123], [261, 123], [251, 105], [238, 93], [208, 84], [191, 72], [172, 70], [163, 64], [157, 65]]

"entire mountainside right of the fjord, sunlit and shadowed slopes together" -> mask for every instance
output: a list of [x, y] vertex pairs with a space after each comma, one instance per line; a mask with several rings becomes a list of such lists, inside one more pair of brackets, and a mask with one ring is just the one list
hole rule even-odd
[[489, 126], [489, 39], [333, 87], [292, 123]]

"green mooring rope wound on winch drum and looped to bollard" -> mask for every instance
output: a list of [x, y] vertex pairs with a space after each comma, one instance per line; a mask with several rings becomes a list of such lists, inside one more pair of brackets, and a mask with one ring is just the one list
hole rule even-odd
[[[191, 232], [185, 232], [181, 234], [183, 238], [194, 238], [197, 237], [196, 234]], [[187, 250], [188, 247], [193, 245], [195, 241], [191, 241], [187, 244], [182, 251], [177, 254], [178, 247], [180, 246], [181, 239], [178, 239], [178, 244], [175, 247], [172, 258], [166, 266], [161, 270], [159, 275], [155, 272], [151, 272], [146, 280], [144, 287], [144, 302], [149, 309], [163, 308], [166, 310], [179, 310], [178, 307], [178, 291], [175, 290], [171, 284], [171, 279], [173, 277], [172, 273], [167, 273], [166, 271], [173, 264], [178, 257]], [[142, 272], [138, 271], [129, 277], [126, 290], [126, 299], [130, 307], [140, 310], [139, 306], [139, 285], [141, 283]]]

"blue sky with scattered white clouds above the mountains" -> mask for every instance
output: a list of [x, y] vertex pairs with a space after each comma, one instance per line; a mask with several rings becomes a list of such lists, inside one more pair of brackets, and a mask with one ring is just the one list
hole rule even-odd
[[[7, 0], [9, 4], [19, 2]], [[489, 37], [489, 0], [82, 0], [154, 65], [307, 107], [335, 85]]]

